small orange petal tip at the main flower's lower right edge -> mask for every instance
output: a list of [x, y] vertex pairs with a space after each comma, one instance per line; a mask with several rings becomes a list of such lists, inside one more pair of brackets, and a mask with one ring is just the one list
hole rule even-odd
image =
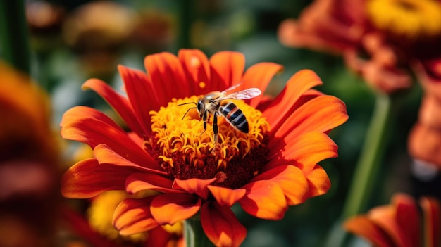
[[330, 189], [328, 174], [320, 166], [316, 165], [309, 174], [306, 175], [309, 184], [309, 196], [321, 196]]

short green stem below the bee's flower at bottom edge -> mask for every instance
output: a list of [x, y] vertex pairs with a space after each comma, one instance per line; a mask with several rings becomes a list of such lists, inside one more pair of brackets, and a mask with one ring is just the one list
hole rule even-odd
[[187, 247], [213, 246], [206, 237], [200, 220], [184, 220], [184, 239]]

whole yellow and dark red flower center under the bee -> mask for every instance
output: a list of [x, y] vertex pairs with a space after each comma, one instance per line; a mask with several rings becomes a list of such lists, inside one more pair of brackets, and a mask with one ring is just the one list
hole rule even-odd
[[223, 101], [221, 106], [232, 102], [242, 110], [249, 132], [241, 132], [225, 119], [232, 120], [232, 116], [218, 113], [218, 141], [214, 143], [213, 115], [207, 112], [204, 129], [204, 122], [192, 104], [200, 99], [197, 96], [173, 99], [158, 112], [151, 111], [153, 137], [145, 141], [145, 147], [157, 157], [170, 177], [216, 177], [214, 184], [218, 186], [239, 188], [256, 176], [266, 163], [269, 124], [259, 110], [243, 101]]

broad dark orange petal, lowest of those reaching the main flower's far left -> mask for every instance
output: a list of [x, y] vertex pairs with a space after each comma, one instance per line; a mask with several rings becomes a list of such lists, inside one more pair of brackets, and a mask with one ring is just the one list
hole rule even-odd
[[61, 194], [67, 198], [91, 198], [103, 191], [123, 190], [125, 179], [135, 170], [99, 165], [89, 158], [76, 163], [61, 178]]

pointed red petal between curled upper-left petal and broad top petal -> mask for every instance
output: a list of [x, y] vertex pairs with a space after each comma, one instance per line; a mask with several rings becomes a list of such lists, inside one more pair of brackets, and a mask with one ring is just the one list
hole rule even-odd
[[161, 95], [157, 95], [155, 85], [150, 78], [140, 70], [132, 70], [122, 65], [118, 66], [121, 77], [123, 78], [125, 90], [132, 105], [139, 124], [144, 128], [151, 126], [150, 110], [159, 110], [163, 104]]

